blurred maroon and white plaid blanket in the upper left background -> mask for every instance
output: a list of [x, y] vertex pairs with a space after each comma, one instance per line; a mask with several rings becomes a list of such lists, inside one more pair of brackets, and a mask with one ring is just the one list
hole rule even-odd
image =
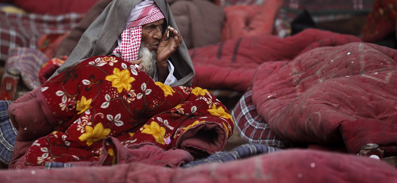
[[37, 40], [46, 34], [65, 34], [82, 14], [38, 15], [0, 11], [0, 60], [7, 60], [8, 48], [37, 47]]

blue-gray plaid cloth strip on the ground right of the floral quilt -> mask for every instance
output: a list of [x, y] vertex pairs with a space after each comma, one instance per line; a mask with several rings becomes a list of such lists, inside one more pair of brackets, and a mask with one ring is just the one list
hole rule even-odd
[[206, 158], [186, 163], [182, 166], [182, 168], [195, 167], [207, 163], [224, 163], [228, 161], [251, 157], [258, 154], [268, 154], [277, 151], [281, 151], [281, 149], [277, 147], [269, 147], [262, 144], [247, 143], [240, 145], [228, 152], [226, 151], [217, 152], [211, 154]]

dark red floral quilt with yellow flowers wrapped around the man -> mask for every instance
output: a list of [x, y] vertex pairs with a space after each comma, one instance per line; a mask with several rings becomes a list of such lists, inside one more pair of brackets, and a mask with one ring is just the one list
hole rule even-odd
[[[55, 131], [33, 142], [25, 165], [95, 162], [101, 156], [106, 157], [102, 164], [114, 164], [122, 158], [117, 157], [119, 143], [203, 156], [222, 150], [233, 131], [227, 109], [207, 90], [154, 82], [114, 56], [88, 58], [52, 78], [38, 100], [45, 103], [42, 108]], [[32, 124], [18, 125], [28, 131]], [[103, 141], [106, 137], [117, 141]]]

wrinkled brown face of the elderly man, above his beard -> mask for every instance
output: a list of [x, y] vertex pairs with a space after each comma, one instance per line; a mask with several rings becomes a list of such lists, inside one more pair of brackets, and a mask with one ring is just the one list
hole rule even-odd
[[150, 51], [156, 51], [159, 41], [163, 36], [164, 18], [152, 23], [142, 25], [141, 44]]

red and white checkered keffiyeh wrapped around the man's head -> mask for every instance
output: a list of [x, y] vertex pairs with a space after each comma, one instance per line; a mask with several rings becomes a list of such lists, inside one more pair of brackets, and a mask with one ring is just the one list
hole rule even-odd
[[142, 0], [132, 9], [125, 29], [121, 34], [121, 43], [113, 53], [121, 55], [126, 61], [138, 59], [138, 50], [142, 38], [142, 25], [164, 18], [163, 13], [153, 0]]

